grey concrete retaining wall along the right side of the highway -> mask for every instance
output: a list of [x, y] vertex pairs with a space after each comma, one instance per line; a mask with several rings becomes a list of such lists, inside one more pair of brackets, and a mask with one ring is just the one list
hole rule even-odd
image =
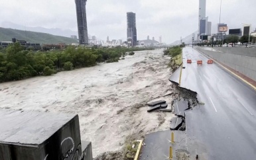
[[[254, 48], [214, 48], [216, 50], [222, 50], [223, 52], [214, 52], [211, 50], [204, 50], [202, 48], [196, 48], [196, 50], [218, 60], [225, 65], [235, 69], [239, 73], [256, 81], [256, 58], [248, 57], [248, 55], [256, 55]], [[254, 50], [248, 50], [254, 49]], [[245, 52], [245, 50], [248, 50]], [[224, 52], [225, 51], [225, 52]], [[255, 53], [253, 53], [255, 51]], [[232, 54], [231, 54], [232, 53]], [[245, 53], [247, 56], [241, 56]], [[255, 56], [256, 57], [256, 56]]]

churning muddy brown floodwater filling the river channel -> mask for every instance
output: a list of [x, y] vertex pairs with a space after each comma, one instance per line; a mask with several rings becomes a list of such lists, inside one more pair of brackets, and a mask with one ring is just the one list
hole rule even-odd
[[172, 92], [163, 50], [135, 52], [118, 63], [0, 84], [0, 108], [78, 114], [93, 155], [118, 151], [127, 136], [168, 130], [171, 113], [147, 113], [148, 101]]

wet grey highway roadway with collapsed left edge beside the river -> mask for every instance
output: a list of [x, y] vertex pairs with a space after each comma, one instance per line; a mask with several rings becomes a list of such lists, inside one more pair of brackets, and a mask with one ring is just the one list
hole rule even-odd
[[186, 112], [188, 151], [204, 159], [255, 159], [256, 91], [193, 48], [184, 48], [183, 58], [180, 87], [204, 102]]

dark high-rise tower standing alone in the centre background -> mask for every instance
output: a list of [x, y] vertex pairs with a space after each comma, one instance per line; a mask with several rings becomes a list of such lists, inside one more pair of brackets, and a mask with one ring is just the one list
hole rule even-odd
[[127, 13], [127, 42], [137, 46], [136, 14], [132, 12]]

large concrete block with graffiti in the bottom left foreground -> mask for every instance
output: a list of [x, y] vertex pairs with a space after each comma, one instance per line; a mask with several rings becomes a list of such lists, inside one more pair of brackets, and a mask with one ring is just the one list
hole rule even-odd
[[0, 110], [0, 159], [92, 160], [92, 143], [80, 138], [78, 115]]

